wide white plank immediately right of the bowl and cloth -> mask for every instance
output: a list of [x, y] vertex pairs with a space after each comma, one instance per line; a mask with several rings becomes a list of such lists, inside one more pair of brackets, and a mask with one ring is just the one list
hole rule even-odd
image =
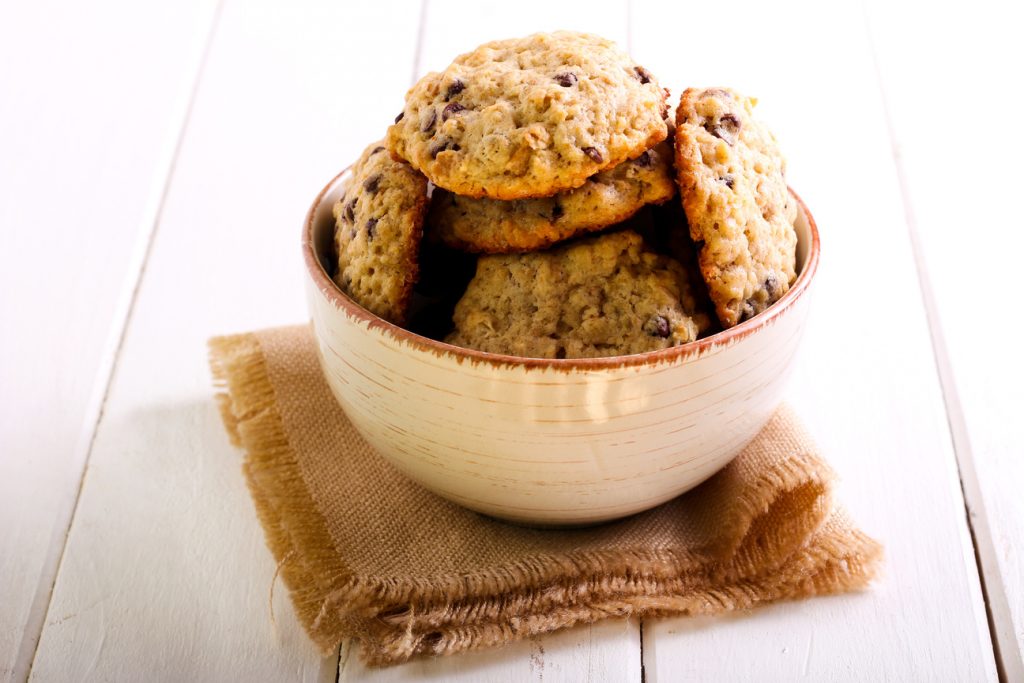
[[635, 56], [674, 91], [732, 85], [761, 98], [822, 233], [788, 400], [888, 551], [863, 594], [644, 624], [647, 680], [994, 679], [860, 7], [739, 2], [724, 20], [713, 4], [636, 2], [631, 25]]

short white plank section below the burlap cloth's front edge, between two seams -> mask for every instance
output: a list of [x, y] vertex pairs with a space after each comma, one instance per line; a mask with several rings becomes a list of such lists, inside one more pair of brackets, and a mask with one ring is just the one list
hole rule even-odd
[[354, 651], [344, 650], [338, 672], [347, 681], [633, 681], [640, 683], [640, 629], [636, 622], [608, 620], [501, 649], [422, 659], [400, 667], [367, 670]]

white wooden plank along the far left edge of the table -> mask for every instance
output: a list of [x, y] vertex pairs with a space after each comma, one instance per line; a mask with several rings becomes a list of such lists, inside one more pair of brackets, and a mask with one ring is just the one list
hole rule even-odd
[[212, 10], [0, 8], [0, 680], [32, 661]]

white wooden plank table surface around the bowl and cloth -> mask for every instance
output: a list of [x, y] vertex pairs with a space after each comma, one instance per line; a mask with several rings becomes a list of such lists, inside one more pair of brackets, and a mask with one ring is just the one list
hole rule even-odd
[[[1024, 51], [1006, 5], [2, 5], [0, 679], [1024, 680]], [[206, 339], [304, 319], [305, 207], [416, 77], [557, 28], [620, 41], [677, 94], [761, 98], [823, 240], [788, 399], [886, 574], [385, 671], [322, 658], [283, 590], [271, 622]]]

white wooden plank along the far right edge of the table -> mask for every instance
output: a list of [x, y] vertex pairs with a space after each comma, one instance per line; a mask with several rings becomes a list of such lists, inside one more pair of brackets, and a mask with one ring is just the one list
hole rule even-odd
[[[1024, 93], [1008, 87], [1024, 63], [1020, 10], [868, 9], [1002, 674], [1024, 680], [1024, 360], [1019, 335], [991, 327], [1016, 316], [1024, 221], [1009, 210], [1024, 133], [983, 125], [975, 143], [973, 132], [974, 121], [1024, 108]], [[985, 93], [1000, 93], [998, 103]]]

